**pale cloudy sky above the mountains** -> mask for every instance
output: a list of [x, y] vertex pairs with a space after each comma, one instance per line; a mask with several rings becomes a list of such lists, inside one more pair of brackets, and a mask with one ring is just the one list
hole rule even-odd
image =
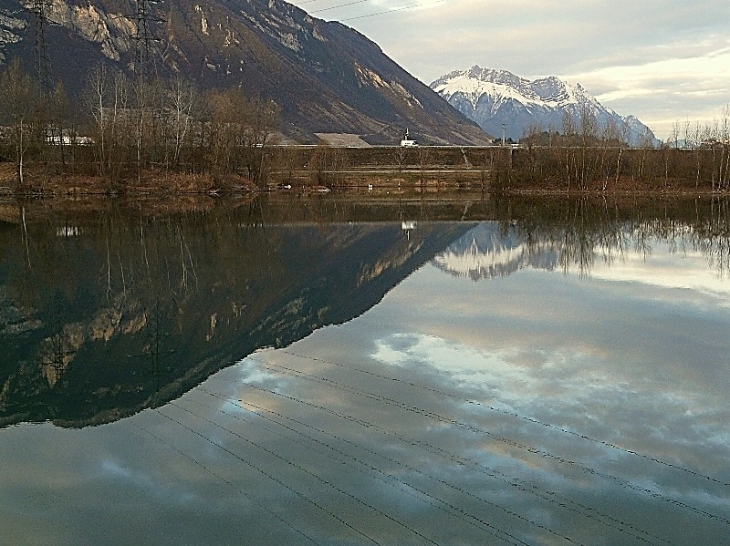
[[660, 138], [730, 103], [730, 2], [292, 0], [377, 42], [425, 83], [478, 64], [580, 83]]

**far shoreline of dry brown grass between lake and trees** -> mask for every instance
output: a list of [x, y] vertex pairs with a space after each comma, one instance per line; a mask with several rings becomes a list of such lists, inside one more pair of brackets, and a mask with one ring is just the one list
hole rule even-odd
[[[373, 158], [369, 158], [373, 159]], [[380, 158], [385, 159], [383, 158]], [[453, 159], [453, 158], [452, 158]], [[606, 176], [578, 183], [559, 177], [523, 176], [519, 169], [498, 165], [413, 163], [396, 165], [360, 163], [338, 167], [309, 168], [305, 162], [287, 169], [267, 168], [260, 181], [236, 173], [200, 174], [163, 167], [148, 167], [124, 177], [88, 173], [49, 172], [43, 165], [26, 166], [24, 184], [17, 180], [15, 165], [0, 163], [0, 197], [16, 199], [64, 199], [82, 197], [240, 197], [275, 192], [301, 194], [328, 192], [438, 193], [478, 191], [511, 197], [663, 198], [728, 197], [730, 185], [681, 176], [635, 179], [626, 175]], [[333, 168], [334, 167], [334, 168]], [[80, 169], [81, 170], [81, 169]], [[595, 174], [595, 173], [594, 173]]]

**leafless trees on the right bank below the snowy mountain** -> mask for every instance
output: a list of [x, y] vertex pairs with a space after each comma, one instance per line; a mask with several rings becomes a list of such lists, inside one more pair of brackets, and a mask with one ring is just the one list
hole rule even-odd
[[635, 146], [626, 141], [625, 128], [609, 123], [599, 129], [590, 113], [577, 122], [567, 116], [562, 133], [533, 129], [519, 149], [505, 150], [496, 165], [497, 185], [604, 192], [632, 184], [730, 190], [730, 108], [705, 126], [676, 123], [661, 146], [649, 133]]

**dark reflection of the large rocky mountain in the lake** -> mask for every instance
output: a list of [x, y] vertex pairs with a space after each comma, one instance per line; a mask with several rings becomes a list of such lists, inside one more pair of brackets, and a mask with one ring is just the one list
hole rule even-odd
[[77, 427], [160, 405], [363, 313], [469, 228], [261, 215], [111, 210], [3, 230], [0, 425]]

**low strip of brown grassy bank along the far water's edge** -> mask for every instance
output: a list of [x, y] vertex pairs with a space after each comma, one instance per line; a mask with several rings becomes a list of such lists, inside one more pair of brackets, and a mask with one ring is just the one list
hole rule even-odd
[[[230, 197], [271, 192], [316, 194], [332, 191], [368, 192], [390, 196], [449, 191], [476, 191], [482, 194], [496, 193], [524, 197], [691, 198], [730, 195], [728, 187], [695, 186], [681, 180], [656, 183], [623, 178], [612, 180], [608, 185], [604, 185], [601, 181], [593, 181], [583, 187], [577, 185], [569, 187], [564, 183], [550, 181], [539, 184], [524, 182], [499, 184], [490, 179], [489, 173], [448, 168], [429, 171], [378, 169], [327, 174], [331, 178], [324, 181], [312, 180], [306, 173], [298, 173], [297, 176], [266, 184], [256, 184], [248, 178], [236, 175], [212, 177], [154, 170], [143, 172], [139, 179], [115, 183], [93, 176], [31, 175], [26, 177], [25, 184], [19, 185], [12, 178], [0, 177], [0, 196], [30, 199], [120, 196], [183, 198], [207, 195]], [[274, 180], [278, 178], [275, 177]]]

